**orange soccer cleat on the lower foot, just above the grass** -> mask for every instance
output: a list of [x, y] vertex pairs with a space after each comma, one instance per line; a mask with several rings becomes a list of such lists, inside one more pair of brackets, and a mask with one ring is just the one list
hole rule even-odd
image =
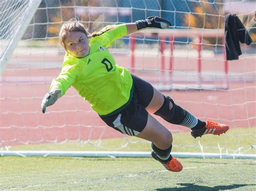
[[156, 152], [152, 151], [151, 155], [154, 159], [159, 161], [168, 171], [180, 172], [183, 169], [183, 166], [181, 165], [181, 163], [174, 157], [172, 157], [172, 159], [169, 162], [164, 162], [163, 160], [157, 157]]

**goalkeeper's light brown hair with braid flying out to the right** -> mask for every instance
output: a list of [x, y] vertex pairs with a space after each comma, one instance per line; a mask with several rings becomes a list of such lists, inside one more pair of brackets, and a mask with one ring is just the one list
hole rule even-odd
[[86, 27], [82, 24], [82, 22], [80, 22], [78, 17], [72, 18], [68, 20], [68, 22], [62, 25], [62, 28], [60, 29], [60, 32], [59, 32], [59, 42], [66, 49], [64, 41], [69, 32], [82, 32], [85, 34], [87, 38], [93, 38], [93, 37], [100, 36], [104, 32], [111, 30], [112, 28], [113, 28], [113, 25], [109, 25], [104, 27], [99, 32], [93, 32], [92, 34], [90, 34], [86, 29]]

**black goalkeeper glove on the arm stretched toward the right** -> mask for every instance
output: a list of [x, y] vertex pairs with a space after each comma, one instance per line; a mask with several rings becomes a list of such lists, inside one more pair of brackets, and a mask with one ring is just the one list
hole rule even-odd
[[158, 29], [167, 29], [169, 26], [172, 26], [172, 24], [160, 17], [147, 17], [145, 20], [137, 20], [136, 22], [138, 30], [145, 29], [146, 27], [155, 27]]

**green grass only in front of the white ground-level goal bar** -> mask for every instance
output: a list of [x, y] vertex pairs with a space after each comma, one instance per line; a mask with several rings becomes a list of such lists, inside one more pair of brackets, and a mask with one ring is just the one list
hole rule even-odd
[[151, 158], [0, 158], [0, 189], [255, 190], [247, 159], [180, 159], [180, 173]]

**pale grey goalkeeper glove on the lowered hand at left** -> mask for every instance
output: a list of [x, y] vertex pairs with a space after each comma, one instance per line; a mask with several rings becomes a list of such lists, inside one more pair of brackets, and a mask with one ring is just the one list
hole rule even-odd
[[60, 95], [61, 91], [59, 89], [46, 93], [41, 103], [42, 112], [45, 113], [46, 107], [53, 105]]

